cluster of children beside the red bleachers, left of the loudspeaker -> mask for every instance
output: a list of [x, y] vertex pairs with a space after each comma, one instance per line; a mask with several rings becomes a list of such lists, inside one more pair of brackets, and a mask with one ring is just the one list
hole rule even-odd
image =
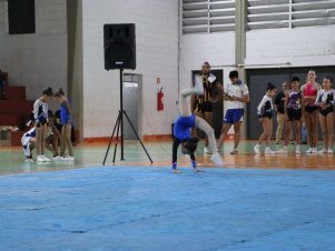
[[[56, 127], [55, 117], [49, 111], [48, 102], [53, 98], [60, 104], [60, 128]], [[31, 152], [32, 149], [36, 149], [37, 162], [75, 160], [71, 142], [71, 108], [61, 88], [55, 93], [51, 88], [42, 91], [41, 97], [33, 104], [33, 118], [30, 122], [30, 130], [21, 138], [26, 162], [35, 161]], [[60, 150], [58, 149], [58, 142], [60, 142]], [[46, 148], [53, 152], [52, 159], [45, 155]]]

